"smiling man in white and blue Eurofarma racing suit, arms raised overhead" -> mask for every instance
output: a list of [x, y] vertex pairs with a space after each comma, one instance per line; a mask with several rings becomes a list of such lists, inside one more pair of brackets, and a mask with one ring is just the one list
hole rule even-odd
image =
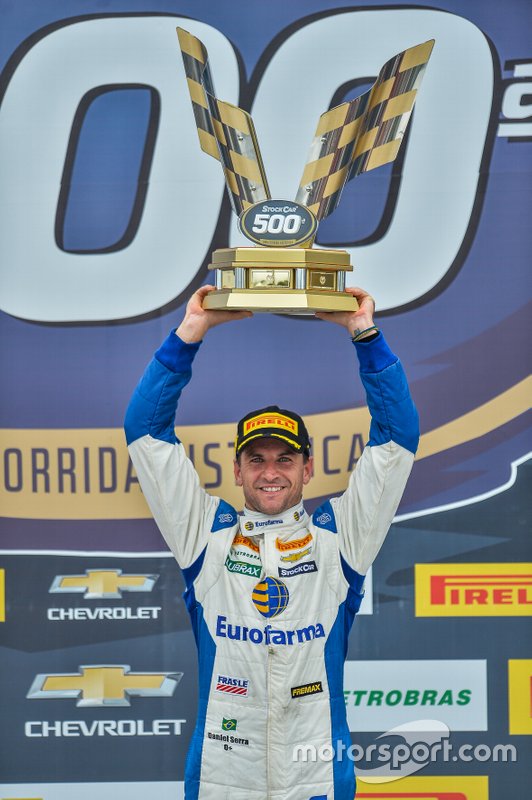
[[[418, 440], [417, 414], [396, 356], [356, 312], [319, 313], [354, 339], [372, 415], [370, 439], [341, 497], [312, 518], [307, 430], [269, 407], [238, 424], [234, 472], [245, 507], [208, 495], [174, 433], [177, 400], [208, 330], [249, 312], [206, 311], [202, 287], [155, 354], [132, 398], [126, 434], [155, 520], [185, 578], [199, 651], [199, 709], [186, 800], [352, 800], [343, 697], [347, 637], [364, 576], [401, 499]], [[332, 746], [332, 760], [294, 758]], [[336, 752], [338, 750], [338, 752]], [[343, 758], [341, 757], [343, 755]]]

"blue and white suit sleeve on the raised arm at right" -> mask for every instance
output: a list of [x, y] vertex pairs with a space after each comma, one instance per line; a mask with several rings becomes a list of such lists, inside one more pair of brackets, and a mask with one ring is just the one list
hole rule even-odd
[[401, 362], [382, 333], [355, 342], [371, 414], [369, 441], [345, 493], [332, 501], [340, 552], [365, 575], [401, 500], [419, 441], [418, 415]]

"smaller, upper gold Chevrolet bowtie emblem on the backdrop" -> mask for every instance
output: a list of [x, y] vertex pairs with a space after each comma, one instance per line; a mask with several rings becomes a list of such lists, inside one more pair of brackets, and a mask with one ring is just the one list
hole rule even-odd
[[121, 569], [87, 569], [85, 575], [57, 575], [50, 593], [84, 592], [86, 599], [118, 599], [122, 592], [151, 592], [158, 575], [123, 575]]

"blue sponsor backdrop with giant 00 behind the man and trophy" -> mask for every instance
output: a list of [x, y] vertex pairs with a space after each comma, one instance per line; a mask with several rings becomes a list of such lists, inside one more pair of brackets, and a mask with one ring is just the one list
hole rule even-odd
[[[345, 698], [357, 797], [524, 796], [530, 3], [0, 0], [0, 13], [1, 796], [182, 796], [195, 645], [122, 422], [212, 251], [247, 240], [198, 144], [177, 26], [207, 47], [217, 96], [252, 114], [272, 196], [288, 199], [320, 114], [435, 40], [398, 159], [347, 184], [316, 241], [347, 250], [348, 285], [376, 298], [422, 431]], [[237, 507], [236, 421], [268, 404], [307, 422], [312, 511], [368, 438], [345, 332], [256, 314], [202, 345], [176, 426], [202, 485]], [[426, 758], [394, 772], [368, 751], [412, 744], [412, 725]]]

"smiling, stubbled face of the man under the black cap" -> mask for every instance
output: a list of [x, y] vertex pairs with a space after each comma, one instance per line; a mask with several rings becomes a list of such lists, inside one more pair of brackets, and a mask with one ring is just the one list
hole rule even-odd
[[275, 516], [295, 506], [303, 486], [312, 477], [313, 461], [275, 438], [261, 438], [248, 444], [235, 461], [235, 481], [244, 490], [250, 511]]

